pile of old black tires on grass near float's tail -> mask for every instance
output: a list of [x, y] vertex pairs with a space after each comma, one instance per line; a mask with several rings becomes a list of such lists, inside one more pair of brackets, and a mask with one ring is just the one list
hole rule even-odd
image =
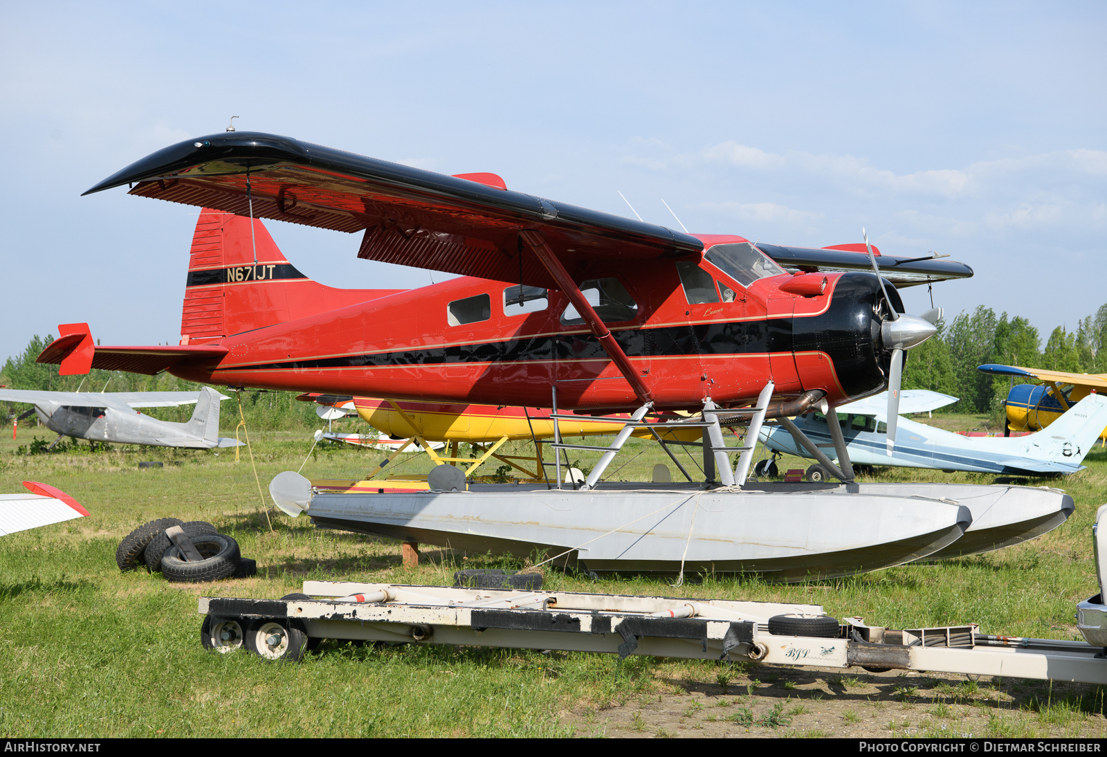
[[[165, 532], [179, 526], [204, 559], [188, 561], [180, 549]], [[248, 578], [258, 572], [256, 560], [244, 558], [238, 542], [219, 533], [215, 526], [203, 520], [183, 521], [179, 518], [158, 518], [131, 531], [115, 550], [120, 570], [145, 567], [152, 573], [162, 573], [175, 583], [201, 583], [226, 578]]]

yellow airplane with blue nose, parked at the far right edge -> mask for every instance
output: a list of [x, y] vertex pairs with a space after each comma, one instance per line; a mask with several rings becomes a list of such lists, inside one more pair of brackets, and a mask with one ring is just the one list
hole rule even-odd
[[[1042, 384], [1012, 386], [1003, 402], [1007, 411], [1004, 436], [1011, 432], [1045, 428], [1093, 392], [1107, 391], [1107, 373], [1065, 373], [1017, 365], [979, 365], [977, 371], [1001, 376], [1037, 378]], [[1107, 428], [1099, 435], [1107, 446]]]

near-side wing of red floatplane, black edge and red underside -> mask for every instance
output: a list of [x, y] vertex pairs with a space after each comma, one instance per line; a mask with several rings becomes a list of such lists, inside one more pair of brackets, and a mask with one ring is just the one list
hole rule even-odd
[[241, 216], [364, 231], [358, 257], [498, 281], [555, 287], [519, 241], [540, 231], [573, 277], [602, 259], [699, 258], [703, 242], [663, 226], [251, 132], [182, 142], [84, 193], [132, 195]]

